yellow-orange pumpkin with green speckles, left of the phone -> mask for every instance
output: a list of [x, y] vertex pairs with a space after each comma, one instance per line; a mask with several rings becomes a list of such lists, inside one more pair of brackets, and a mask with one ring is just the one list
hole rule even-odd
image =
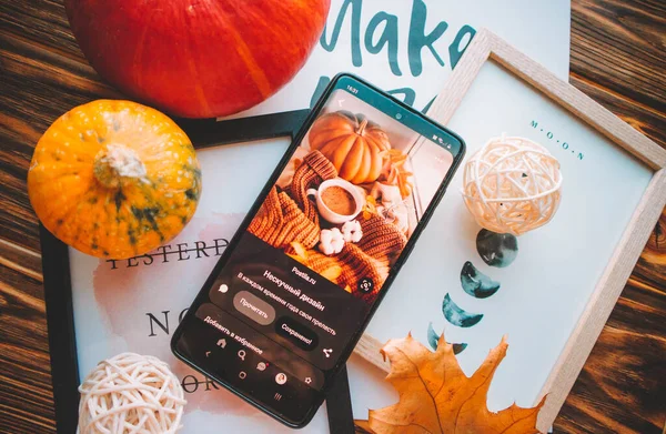
[[188, 135], [167, 115], [99, 100], [60, 117], [40, 139], [28, 194], [43, 225], [99, 258], [125, 259], [175, 236], [201, 194]]

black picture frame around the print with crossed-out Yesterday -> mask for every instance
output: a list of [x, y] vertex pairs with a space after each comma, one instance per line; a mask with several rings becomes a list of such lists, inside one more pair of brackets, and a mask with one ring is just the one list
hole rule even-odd
[[[195, 149], [278, 137], [294, 137], [310, 110], [229, 121], [174, 119]], [[69, 248], [40, 224], [49, 354], [58, 433], [75, 433], [79, 422], [79, 359], [72, 305]], [[346, 372], [341, 372], [327, 405], [332, 433], [353, 432]]]

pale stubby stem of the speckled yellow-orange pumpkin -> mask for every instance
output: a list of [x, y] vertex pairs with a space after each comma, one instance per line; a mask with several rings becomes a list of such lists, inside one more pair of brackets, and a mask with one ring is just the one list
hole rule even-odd
[[137, 151], [124, 144], [107, 144], [94, 159], [93, 173], [104, 186], [118, 188], [128, 181], [145, 179], [145, 165]]

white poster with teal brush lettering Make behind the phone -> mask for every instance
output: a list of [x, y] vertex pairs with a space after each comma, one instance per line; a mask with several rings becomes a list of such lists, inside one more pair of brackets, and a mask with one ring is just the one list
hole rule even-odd
[[342, 71], [425, 111], [483, 27], [568, 81], [569, 16], [569, 0], [332, 0], [305, 67], [275, 95], [230, 119], [312, 107]]

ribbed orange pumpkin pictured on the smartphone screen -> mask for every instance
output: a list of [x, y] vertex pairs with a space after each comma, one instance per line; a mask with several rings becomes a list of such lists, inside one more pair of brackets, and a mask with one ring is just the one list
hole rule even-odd
[[336, 111], [320, 117], [310, 129], [310, 148], [324, 154], [343, 178], [355, 184], [376, 181], [391, 149], [389, 137], [363, 114]]

